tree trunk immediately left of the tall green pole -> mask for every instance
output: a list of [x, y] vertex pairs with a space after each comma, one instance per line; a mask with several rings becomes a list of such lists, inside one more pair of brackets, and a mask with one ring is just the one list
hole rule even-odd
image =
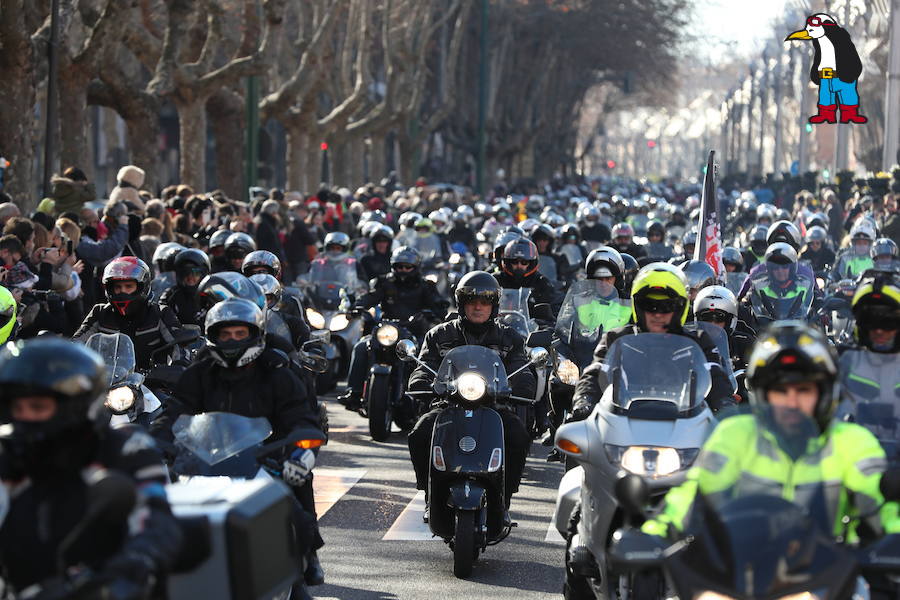
[[[243, 101], [223, 89], [206, 103], [216, 145], [216, 185], [229, 198], [241, 198], [244, 189]], [[238, 142], [240, 140], [241, 143]]]

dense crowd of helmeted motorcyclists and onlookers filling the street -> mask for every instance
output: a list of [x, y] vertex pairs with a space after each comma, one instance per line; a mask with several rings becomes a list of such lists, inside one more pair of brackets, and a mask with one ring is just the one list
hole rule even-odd
[[[84, 179], [66, 173], [60, 179]], [[677, 539], [698, 495], [725, 494], [747, 474], [787, 500], [800, 483], [837, 482], [828, 496], [836, 537], [844, 517], [862, 513], [869, 539], [900, 532], [879, 489], [881, 474], [900, 466], [900, 171], [893, 181], [774, 197], [720, 189], [722, 273], [695, 256], [705, 235], [697, 184], [558, 177], [480, 198], [424, 180], [405, 188], [391, 175], [355, 192], [251, 188], [243, 202], [186, 185], [154, 197], [134, 166], [118, 179], [129, 193], [58, 208], [51, 197], [27, 218], [0, 204], [0, 477], [9, 496], [0, 565], [17, 592], [58, 578], [61, 564], [64, 575], [98, 573], [120, 594], [109, 597], [162, 593], [184, 543], [166, 497], [178, 477], [179, 419], [224, 412], [266, 419], [270, 440], [326, 435], [321, 396], [344, 378], [337, 400], [347, 410], [370, 423], [387, 410], [373, 438], [389, 435], [391, 421], [406, 432], [410, 478], [429, 503], [431, 474], [452, 460], [439, 452], [436, 422], [453, 406], [471, 412], [488, 389], [502, 423], [506, 535], [532, 442], [555, 445], [548, 461], [566, 461], [578, 454], [561, 445], [566, 424], [627, 414], [615, 399], [627, 377], [609, 367], [610, 352], [648, 334], [699, 348], [709, 374], [701, 396], [721, 426], [682, 465], [686, 479], [647, 519], [646, 535]], [[112, 424], [110, 365], [86, 344], [118, 334], [133, 342], [136, 389], [160, 406]], [[505, 387], [483, 373], [480, 384], [447, 384], [448, 355], [470, 346], [496, 354]], [[376, 408], [382, 389], [392, 408]], [[669, 418], [653, 414], [634, 418]], [[804, 418], [815, 431], [797, 442]], [[288, 444], [269, 469], [293, 502], [297, 597], [325, 578], [318, 452]], [[804, 461], [816, 469], [788, 481]], [[89, 510], [89, 471], [99, 469], [133, 480], [144, 517], [72, 544]], [[586, 510], [575, 511], [572, 531]], [[584, 561], [567, 557], [568, 598], [594, 597]]]

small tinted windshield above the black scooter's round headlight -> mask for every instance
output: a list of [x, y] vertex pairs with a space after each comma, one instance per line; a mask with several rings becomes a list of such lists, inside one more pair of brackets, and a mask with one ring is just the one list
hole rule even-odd
[[483, 398], [496, 398], [510, 394], [506, 368], [495, 350], [484, 346], [457, 346], [448, 352], [438, 367], [434, 380], [435, 392], [439, 395], [453, 393], [466, 388], [478, 387], [475, 375], [484, 382]]

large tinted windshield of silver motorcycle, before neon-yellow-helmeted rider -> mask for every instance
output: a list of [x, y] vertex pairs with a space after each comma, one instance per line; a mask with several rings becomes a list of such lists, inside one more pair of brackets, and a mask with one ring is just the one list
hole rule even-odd
[[712, 385], [706, 356], [683, 335], [622, 336], [609, 347], [606, 366], [612, 402], [626, 414], [671, 404], [677, 417], [700, 406]]

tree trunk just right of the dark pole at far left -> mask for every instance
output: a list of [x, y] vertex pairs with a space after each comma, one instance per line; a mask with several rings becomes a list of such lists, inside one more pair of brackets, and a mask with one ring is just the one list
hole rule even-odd
[[87, 103], [88, 80], [75, 67], [59, 74], [59, 164], [60, 171], [77, 166], [94, 181], [93, 148]]

